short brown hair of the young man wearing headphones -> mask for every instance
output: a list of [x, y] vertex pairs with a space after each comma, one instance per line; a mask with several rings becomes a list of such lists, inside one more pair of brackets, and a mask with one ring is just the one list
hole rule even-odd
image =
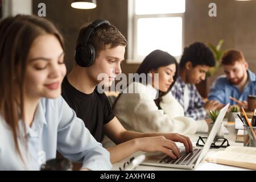
[[[88, 26], [89, 23], [81, 27], [79, 36], [77, 38], [76, 47], [81, 47], [83, 45], [82, 40]], [[117, 46], [126, 47], [127, 45], [125, 37], [112, 24], [102, 24], [101, 26], [95, 28], [89, 37], [88, 43], [94, 46], [96, 57], [99, 55], [100, 51], [104, 51], [108, 45], [110, 45], [110, 48]]]

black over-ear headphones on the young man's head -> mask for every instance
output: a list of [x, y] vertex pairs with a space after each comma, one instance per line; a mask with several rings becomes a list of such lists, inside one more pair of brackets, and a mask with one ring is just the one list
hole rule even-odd
[[[93, 30], [102, 24], [109, 24], [108, 20], [96, 19], [88, 27], [86, 27], [84, 38], [82, 39], [82, 46], [76, 47], [75, 60], [80, 67], [89, 67], [96, 59], [96, 51], [92, 44], [88, 43], [90, 35]], [[80, 31], [81, 34], [82, 31]]]

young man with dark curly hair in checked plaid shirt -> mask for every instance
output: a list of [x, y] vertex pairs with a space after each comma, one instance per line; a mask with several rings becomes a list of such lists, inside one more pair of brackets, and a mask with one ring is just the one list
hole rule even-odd
[[205, 44], [196, 42], [184, 48], [179, 63], [179, 77], [171, 92], [184, 107], [185, 116], [196, 120], [204, 119], [209, 110], [219, 107], [218, 101], [204, 102], [195, 86], [205, 80], [206, 73], [214, 65], [213, 53]]

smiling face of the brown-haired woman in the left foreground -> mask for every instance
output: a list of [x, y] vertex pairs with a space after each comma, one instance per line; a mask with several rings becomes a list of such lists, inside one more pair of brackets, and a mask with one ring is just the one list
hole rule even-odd
[[59, 40], [49, 34], [34, 40], [27, 57], [25, 97], [56, 98], [66, 73], [64, 52]]

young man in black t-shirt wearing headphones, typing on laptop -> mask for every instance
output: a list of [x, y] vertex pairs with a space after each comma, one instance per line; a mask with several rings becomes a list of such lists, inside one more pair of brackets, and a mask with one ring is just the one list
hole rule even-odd
[[98, 75], [108, 75], [103, 82], [105, 86], [110, 86], [121, 73], [120, 64], [124, 60], [126, 44], [125, 37], [107, 20], [95, 20], [89, 26], [82, 27], [77, 38], [76, 63], [63, 81], [63, 98], [98, 142], [102, 142], [106, 134], [117, 144], [108, 148], [112, 163], [139, 150], [160, 151], [176, 159], [180, 153], [175, 142], [184, 143], [186, 151], [191, 152], [192, 143], [184, 135], [125, 130], [115, 117], [105, 93], [98, 92], [97, 85], [102, 82], [97, 79]]

